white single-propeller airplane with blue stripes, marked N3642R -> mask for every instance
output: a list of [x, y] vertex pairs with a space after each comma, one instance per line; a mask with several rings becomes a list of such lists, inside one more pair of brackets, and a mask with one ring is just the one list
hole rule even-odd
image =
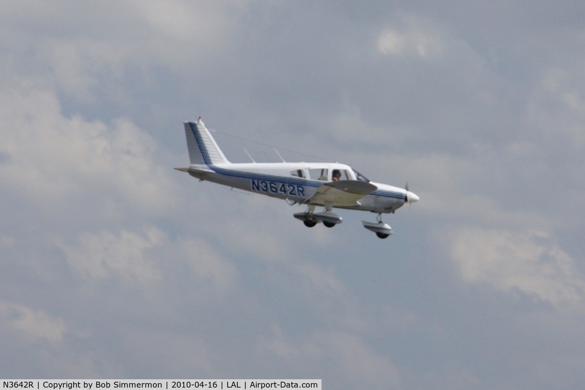
[[[230, 163], [201, 117], [197, 122], [183, 124], [190, 165], [176, 170], [187, 172], [199, 181], [285, 199], [291, 206], [307, 205], [307, 210], [293, 215], [307, 227], [321, 222], [326, 227], [342, 223], [343, 219], [332, 208], [364, 210], [378, 216], [376, 222], [362, 220], [363, 226], [386, 239], [393, 230], [382, 221], [382, 214], [394, 213], [405, 203], [419, 200], [408, 191], [408, 184], [402, 189], [372, 182], [345, 164], [285, 163], [284, 160], [283, 163]], [[318, 206], [324, 209], [318, 212]]]

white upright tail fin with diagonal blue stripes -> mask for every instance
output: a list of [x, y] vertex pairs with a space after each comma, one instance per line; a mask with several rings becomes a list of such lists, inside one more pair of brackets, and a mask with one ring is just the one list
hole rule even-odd
[[229, 163], [201, 118], [197, 122], [183, 122], [183, 124], [185, 125], [187, 149], [189, 150], [191, 164], [213, 165]]

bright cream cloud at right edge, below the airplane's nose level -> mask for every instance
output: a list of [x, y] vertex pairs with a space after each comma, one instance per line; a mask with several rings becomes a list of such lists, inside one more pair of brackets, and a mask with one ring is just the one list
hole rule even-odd
[[464, 281], [521, 291], [553, 303], [577, 303], [585, 292], [573, 259], [543, 233], [457, 230], [452, 255]]

